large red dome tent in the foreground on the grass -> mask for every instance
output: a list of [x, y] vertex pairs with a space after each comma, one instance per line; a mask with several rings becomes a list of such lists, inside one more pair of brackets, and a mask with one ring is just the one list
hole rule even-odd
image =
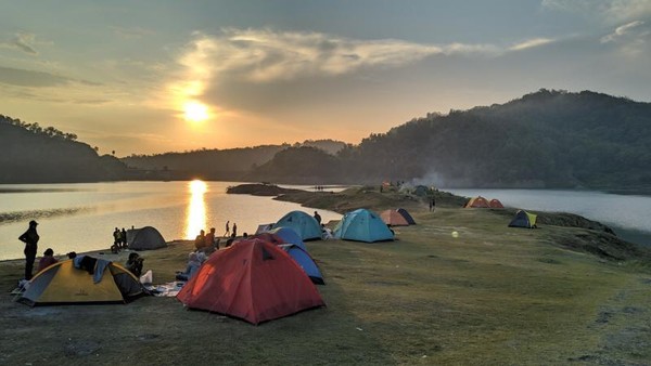
[[177, 299], [253, 324], [326, 305], [292, 257], [258, 238], [213, 253]]

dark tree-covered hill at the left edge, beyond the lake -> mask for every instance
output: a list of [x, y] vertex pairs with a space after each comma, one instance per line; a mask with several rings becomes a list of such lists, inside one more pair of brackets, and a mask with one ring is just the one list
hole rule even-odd
[[126, 166], [98, 156], [77, 136], [52, 127], [0, 115], [0, 183], [63, 183], [122, 180]]

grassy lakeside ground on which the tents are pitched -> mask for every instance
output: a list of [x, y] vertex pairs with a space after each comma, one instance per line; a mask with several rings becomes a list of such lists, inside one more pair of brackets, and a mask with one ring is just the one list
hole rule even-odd
[[[444, 195], [444, 193], [441, 193]], [[0, 262], [0, 364], [646, 364], [651, 266], [644, 249], [593, 230], [507, 227], [509, 211], [462, 209], [353, 188], [280, 199], [337, 212], [405, 207], [395, 241], [307, 241], [327, 308], [253, 326], [175, 298], [28, 308]], [[505, 213], [506, 212], [506, 213]], [[331, 223], [332, 224], [332, 223]], [[190, 241], [143, 251], [154, 282], [184, 267]], [[633, 248], [633, 249], [631, 249]], [[104, 254], [124, 263], [128, 253]], [[108, 256], [113, 256], [108, 258]]]

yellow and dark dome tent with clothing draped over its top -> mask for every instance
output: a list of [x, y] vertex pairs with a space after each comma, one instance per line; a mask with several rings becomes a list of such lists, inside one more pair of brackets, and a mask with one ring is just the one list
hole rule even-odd
[[76, 269], [72, 260], [59, 262], [39, 272], [18, 301], [28, 305], [69, 303], [125, 303], [144, 293], [140, 280], [116, 263], [108, 263], [101, 279]]

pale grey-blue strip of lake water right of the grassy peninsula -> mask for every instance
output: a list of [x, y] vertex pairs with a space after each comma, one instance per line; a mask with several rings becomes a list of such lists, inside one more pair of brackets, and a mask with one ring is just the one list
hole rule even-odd
[[525, 210], [570, 212], [609, 225], [617, 236], [651, 246], [651, 197], [550, 189], [444, 189], [459, 196], [499, 199]]

